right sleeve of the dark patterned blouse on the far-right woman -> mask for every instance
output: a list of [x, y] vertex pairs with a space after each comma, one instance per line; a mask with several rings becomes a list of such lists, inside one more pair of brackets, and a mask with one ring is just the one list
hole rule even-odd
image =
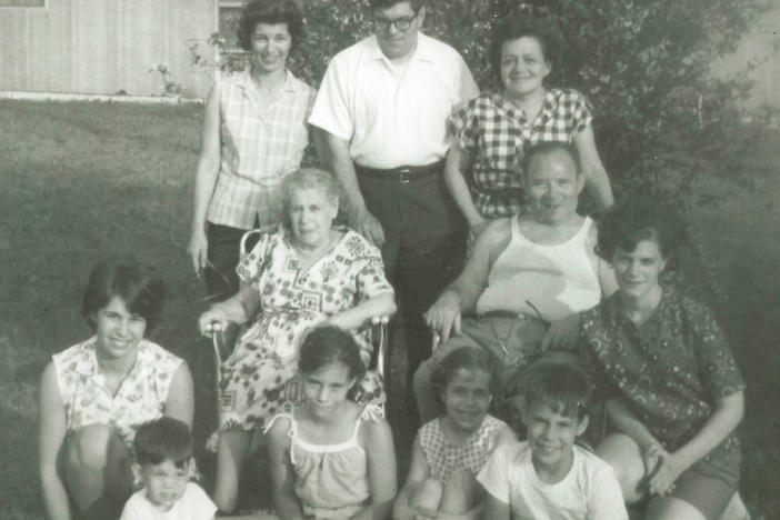
[[712, 311], [699, 303], [687, 304], [687, 310], [693, 326], [697, 364], [704, 391], [713, 399], [742, 391], [744, 380]]

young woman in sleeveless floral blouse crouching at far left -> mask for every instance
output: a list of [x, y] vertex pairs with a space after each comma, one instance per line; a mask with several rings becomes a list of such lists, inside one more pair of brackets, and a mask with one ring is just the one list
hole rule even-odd
[[39, 464], [49, 519], [118, 518], [130, 497], [138, 427], [161, 416], [192, 426], [187, 364], [144, 339], [163, 296], [154, 269], [134, 259], [92, 269], [82, 313], [94, 336], [54, 354], [41, 380]]

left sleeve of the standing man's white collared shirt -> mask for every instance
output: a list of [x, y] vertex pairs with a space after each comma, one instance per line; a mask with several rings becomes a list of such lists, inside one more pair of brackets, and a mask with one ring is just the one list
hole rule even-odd
[[349, 106], [346, 59], [346, 54], [337, 54], [328, 66], [309, 123], [340, 139], [349, 140], [354, 133], [354, 121]]

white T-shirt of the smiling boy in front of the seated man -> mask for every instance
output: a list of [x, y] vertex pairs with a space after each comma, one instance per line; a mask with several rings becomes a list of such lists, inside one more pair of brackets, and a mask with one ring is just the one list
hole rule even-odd
[[528, 442], [497, 448], [477, 480], [516, 520], [628, 520], [612, 468], [578, 446], [571, 470], [554, 484], [537, 477]]

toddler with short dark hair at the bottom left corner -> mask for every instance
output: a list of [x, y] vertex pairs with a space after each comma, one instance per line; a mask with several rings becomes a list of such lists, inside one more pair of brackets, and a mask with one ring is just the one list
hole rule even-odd
[[183, 422], [161, 417], [146, 422], [133, 440], [133, 473], [143, 488], [124, 504], [120, 520], [212, 520], [217, 506], [190, 482], [192, 436]]

